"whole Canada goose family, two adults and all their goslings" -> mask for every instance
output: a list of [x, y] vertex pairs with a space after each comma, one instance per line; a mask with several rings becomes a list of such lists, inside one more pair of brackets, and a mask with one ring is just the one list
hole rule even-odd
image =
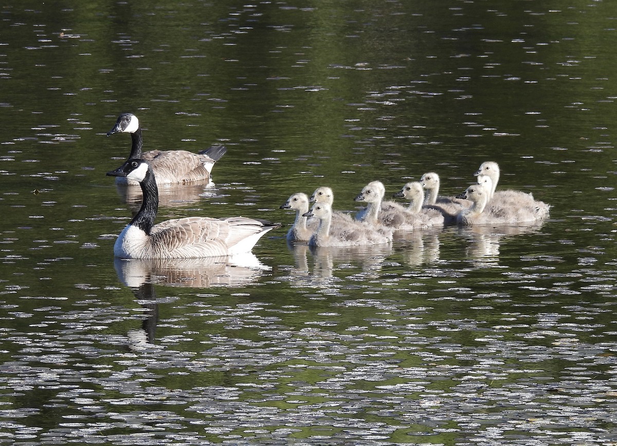
[[[143, 201], [115, 241], [116, 257], [170, 259], [248, 253], [263, 235], [281, 226], [249, 217], [185, 217], [154, 224], [158, 185], [207, 184], [212, 167], [225, 155], [226, 148], [215, 145], [199, 153], [143, 152], [141, 127], [133, 113], [118, 116], [107, 136], [117, 132], [131, 134], [131, 153], [122, 166], [107, 175], [116, 177], [119, 184], [139, 184]], [[318, 187], [310, 197], [297, 192], [280, 206], [296, 211], [286, 238], [311, 246], [377, 245], [392, 241], [397, 231], [453, 224], [532, 223], [549, 216], [550, 206], [535, 200], [531, 193], [496, 190], [499, 174], [498, 164], [486, 161], [474, 174], [475, 184], [456, 197], [444, 197], [439, 195], [439, 175], [426, 173], [394, 194], [395, 198], [407, 200], [407, 206], [384, 201], [383, 183], [371, 181], [355, 197], [355, 201], [366, 203], [355, 216], [333, 209], [334, 195], [329, 187]]]

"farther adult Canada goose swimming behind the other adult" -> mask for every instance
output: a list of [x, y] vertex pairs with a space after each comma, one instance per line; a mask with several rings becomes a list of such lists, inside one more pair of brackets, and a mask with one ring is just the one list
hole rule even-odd
[[[199, 153], [187, 150], [151, 150], [142, 153], [143, 138], [139, 120], [133, 113], [122, 113], [118, 116], [114, 128], [107, 132], [107, 136], [114, 133], [130, 133], [133, 144], [129, 160], [142, 158], [148, 161], [156, 176], [157, 184], [194, 184], [208, 183], [210, 172], [227, 149], [224, 145], [213, 145]], [[128, 161], [126, 161], [128, 163]], [[116, 182], [137, 184], [128, 177], [117, 177]]]

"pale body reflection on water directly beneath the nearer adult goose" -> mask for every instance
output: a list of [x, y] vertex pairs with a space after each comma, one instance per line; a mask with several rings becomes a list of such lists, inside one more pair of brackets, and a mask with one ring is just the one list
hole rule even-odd
[[252, 253], [202, 259], [114, 259], [118, 279], [125, 286], [143, 283], [208, 288], [239, 288], [258, 280], [270, 269]]

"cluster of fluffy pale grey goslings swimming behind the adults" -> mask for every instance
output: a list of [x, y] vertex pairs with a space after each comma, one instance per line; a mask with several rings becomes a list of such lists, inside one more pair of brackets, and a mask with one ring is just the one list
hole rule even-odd
[[[334, 194], [329, 187], [318, 187], [311, 197], [294, 193], [281, 209], [296, 211], [288, 241], [308, 242], [314, 246], [354, 246], [388, 243], [396, 231], [439, 228], [447, 225], [503, 225], [539, 222], [549, 217], [550, 206], [534, 200], [531, 193], [495, 190], [499, 165], [482, 163], [476, 184], [453, 197], [439, 195], [440, 180], [428, 172], [419, 181], [405, 184], [394, 193], [407, 206], [384, 201], [386, 188], [381, 181], [371, 181], [362, 188], [355, 201], [366, 203], [354, 218], [349, 213], [333, 211]], [[310, 202], [315, 205], [309, 211]]]

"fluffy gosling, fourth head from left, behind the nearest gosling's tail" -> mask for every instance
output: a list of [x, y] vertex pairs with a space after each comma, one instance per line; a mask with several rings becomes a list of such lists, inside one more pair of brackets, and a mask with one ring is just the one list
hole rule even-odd
[[385, 225], [394, 230], [426, 229], [418, 216], [394, 201], [383, 201], [386, 188], [381, 181], [371, 181], [362, 188], [355, 201], [365, 201], [366, 208], [359, 211], [355, 218], [370, 224]]

